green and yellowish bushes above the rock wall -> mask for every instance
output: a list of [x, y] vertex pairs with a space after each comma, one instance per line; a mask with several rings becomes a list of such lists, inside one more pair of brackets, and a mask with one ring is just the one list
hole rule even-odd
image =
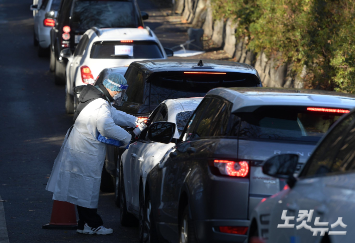
[[248, 48], [294, 73], [306, 65], [305, 88], [355, 93], [355, 1], [211, 0], [213, 18], [231, 18]]

